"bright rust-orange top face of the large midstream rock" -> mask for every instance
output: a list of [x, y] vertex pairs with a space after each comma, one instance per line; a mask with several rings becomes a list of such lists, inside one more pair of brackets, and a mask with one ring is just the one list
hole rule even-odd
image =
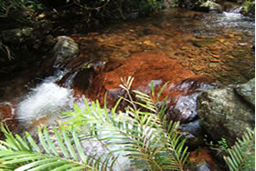
[[[194, 73], [162, 54], [137, 53], [126, 60], [111, 60], [107, 63], [102, 71], [94, 76], [86, 95], [102, 102], [108, 91], [108, 104], [113, 105], [118, 98], [117, 95], [123, 96], [123, 91], [120, 91], [119, 87], [121, 78], [128, 76], [134, 77], [133, 89], [148, 92], [151, 80], [154, 80], [155, 88], [160, 88], [166, 82], [177, 84], [182, 79], [194, 76]], [[163, 92], [163, 96], [167, 94], [167, 91]]]

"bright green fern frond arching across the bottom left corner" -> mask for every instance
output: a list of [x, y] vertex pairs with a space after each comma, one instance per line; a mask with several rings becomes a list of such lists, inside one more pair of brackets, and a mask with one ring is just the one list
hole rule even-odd
[[[13, 136], [1, 127], [5, 141], [0, 141], [0, 169], [4, 170], [105, 170], [110, 169], [110, 160], [87, 156], [81, 147], [80, 138], [73, 130], [69, 133], [60, 126], [53, 128], [50, 136], [46, 127], [38, 127], [38, 144], [26, 136]], [[54, 141], [53, 141], [54, 139]], [[110, 163], [110, 164], [109, 164]]]

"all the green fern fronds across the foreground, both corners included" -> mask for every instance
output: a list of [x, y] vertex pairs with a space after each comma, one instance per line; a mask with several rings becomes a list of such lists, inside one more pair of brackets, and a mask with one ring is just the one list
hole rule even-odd
[[[165, 102], [159, 103], [159, 93], [152, 88], [150, 95], [139, 91], [133, 93], [140, 99], [134, 101], [131, 95], [133, 78], [128, 77], [120, 85], [128, 98], [120, 97], [116, 106], [103, 109], [99, 101], [86, 109], [74, 106], [74, 111], [64, 113], [66, 121], [53, 128], [38, 127], [37, 138], [29, 133], [24, 137], [13, 136], [5, 126], [1, 127], [5, 141], [0, 141], [0, 170], [112, 170], [119, 164], [118, 153], [126, 152], [136, 169], [186, 170], [189, 153], [186, 139], [177, 131], [178, 122], [166, 122]], [[153, 84], [153, 83], [152, 83]], [[154, 87], [152, 85], [152, 87]], [[130, 105], [125, 113], [116, 108], [125, 100]], [[230, 170], [254, 168], [255, 133], [248, 132], [231, 149], [225, 139], [219, 141]], [[37, 140], [36, 140], [37, 139]], [[106, 152], [103, 156], [91, 154], [84, 144], [97, 141]], [[99, 147], [100, 147], [99, 146]], [[111, 146], [120, 146], [111, 149]], [[89, 148], [93, 148], [92, 146]]]

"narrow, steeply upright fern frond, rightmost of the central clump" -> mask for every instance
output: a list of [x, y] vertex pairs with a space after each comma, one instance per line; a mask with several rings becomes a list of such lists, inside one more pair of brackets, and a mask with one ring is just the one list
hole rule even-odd
[[[166, 85], [166, 84], [165, 84]], [[174, 170], [183, 170], [187, 166], [187, 157], [189, 153], [187, 153], [187, 147], [185, 147], [186, 139], [182, 139], [182, 136], [178, 134], [176, 131], [179, 123], [170, 121], [170, 123], [166, 122], [165, 118], [165, 98], [162, 105], [158, 106], [158, 99], [161, 92], [164, 90], [165, 85], [161, 88], [160, 92], [157, 94], [157, 101], [154, 102], [155, 97], [148, 96], [144, 93], [133, 91], [134, 93], [138, 94], [137, 97], [142, 97], [141, 100], [145, 102], [145, 104], [141, 105], [141, 103], [136, 103], [139, 106], [143, 106], [146, 109], [151, 109], [151, 107], [155, 107], [155, 119], [151, 121], [152, 127], [157, 127], [158, 135], [162, 135], [162, 142], [165, 147], [165, 153], [167, 154], [168, 162], [170, 164], [169, 168]], [[154, 91], [154, 88], [152, 90]], [[152, 93], [154, 95], [154, 93]], [[158, 136], [158, 138], [161, 136]], [[163, 153], [162, 153], [163, 154]], [[164, 163], [162, 165], [165, 165]]]

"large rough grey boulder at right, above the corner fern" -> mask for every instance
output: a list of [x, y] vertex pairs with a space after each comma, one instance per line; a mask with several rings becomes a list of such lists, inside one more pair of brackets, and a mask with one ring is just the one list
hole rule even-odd
[[225, 138], [229, 146], [243, 135], [247, 127], [253, 128], [255, 122], [254, 107], [244, 103], [233, 87], [202, 92], [197, 97], [197, 115], [213, 140]]

